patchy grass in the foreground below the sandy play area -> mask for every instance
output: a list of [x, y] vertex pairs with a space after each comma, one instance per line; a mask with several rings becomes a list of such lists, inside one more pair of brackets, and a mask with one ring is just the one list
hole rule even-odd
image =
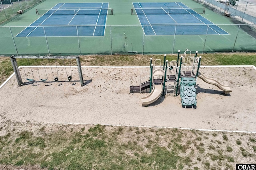
[[[215, 137], [212, 134], [221, 135], [221, 132], [211, 132], [209, 139], [198, 141], [201, 131], [181, 129], [50, 124], [34, 128], [33, 132], [17, 128], [0, 137], [0, 167], [36, 165], [48, 170], [222, 169], [232, 167], [229, 163], [239, 162], [241, 156], [256, 158], [245, 147], [232, 149], [232, 141], [222, 144], [226, 150], [213, 147]], [[6, 129], [9, 128], [4, 126], [1, 131]], [[136, 131], [141, 133], [136, 134]], [[212, 147], [204, 142], [212, 143]], [[146, 147], [149, 144], [150, 147]], [[251, 147], [255, 148], [255, 145]]]

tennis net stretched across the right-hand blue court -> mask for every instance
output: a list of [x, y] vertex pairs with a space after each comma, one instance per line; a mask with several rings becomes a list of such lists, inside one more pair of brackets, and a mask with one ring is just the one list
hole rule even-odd
[[204, 14], [205, 8], [132, 8], [131, 14]]

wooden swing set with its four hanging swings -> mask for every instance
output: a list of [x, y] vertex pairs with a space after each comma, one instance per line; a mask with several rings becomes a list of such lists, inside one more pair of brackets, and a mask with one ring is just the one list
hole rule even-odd
[[[81, 84], [81, 86], [84, 86], [84, 79], [83, 79], [83, 76], [82, 76], [82, 68], [81, 68], [80, 57], [79, 56], [15, 56], [15, 55], [12, 55], [10, 57], [10, 59], [11, 59], [12, 67], [14, 69], [14, 73], [15, 73], [15, 76], [16, 76], [16, 79], [17, 79], [17, 82], [18, 82], [18, 86], [22, 86], [24, 83], [23, 83], [22, 78], [20, 76], [20, 70], [18, 68], [18, 64], [17, 64], [16, 59], [21, 59], [21, 60], [22, 59], [35, 59], [37, 70], [38, 70], [38, 66], [37, 66], [36, 59], [48, 59], [49, 63], [50, 63], [50, 59], [55, 59], [57, 75], [56, 74], [54, 75], [54, 72], [52, 70], [52, 67], [54, 67], [54, 66], [50, 66], [55, 82], [60, 81], [59, 78], [58, 78], [58, 68], [57, 68], [56, 59], [62, 59], [65, 70], [66, 70], [66, 65], [65, 65], [63, 60], [64, 59], [76, 59], [76, 64], [77, 64], [77, 67], [78, 67], [78, 74], [79, 74], [79, 78], [80, 78], [80, 84]], [[28, 63], [29, 63], [29, 60], [28, 60]], [[26, 80], [28, 80], [28, 81], [34, 80], [34, 75], [33, 75], [31, 66], [30, 66], [30, 70], [31, 70], [31, 77], [30, 78], [27, 77], [26, 72], [24, 70]], [[38, 71], [38, 76], [39, 76], [39, 79], [41, 81], [48, 80], [48, 75], [46, 73], [46, 66], [44, 66], [44, 70], [45, 70], [45, 78], [40, 77], [40, 74], [39, 74], [39, 71]], [[70, 74], [68, 74], [67, 70], [66, 70], [66, 74], [67, 74], [68, 81], [72, 80], [71, 62], [70, 62]]]

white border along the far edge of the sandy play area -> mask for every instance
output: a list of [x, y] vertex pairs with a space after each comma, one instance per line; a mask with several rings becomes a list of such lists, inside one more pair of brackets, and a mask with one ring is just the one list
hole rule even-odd
[[[20, 67], [31, 67], [31, 68], [49, 68], [49, 67], [58, 67], [58, 68], [65, 68], [65, 66], [19, 66], [18, 68], [20, 69]], [[77, 68], [77, 66], [71, 66], [72, 68]], [[149, 68], [150, 66], [81, 66], [82, 68]], [[238, 65], [238, 66], [200, 66], [202, 68], [208, 68], [208, 67], [252, 67], [256, 70], [256, 67], [254, 65]], [[2, 86], [4, 86], [4, 84], [6, 84], [8, 82], [8, 80], [10, 80], [10, 78], [12, 78], [12, 76], [14, 75], [14, 73], [12, 73], [12, 75], [7, 78], [3, 84], [0, 85], [0, 88], [2, 88]]]

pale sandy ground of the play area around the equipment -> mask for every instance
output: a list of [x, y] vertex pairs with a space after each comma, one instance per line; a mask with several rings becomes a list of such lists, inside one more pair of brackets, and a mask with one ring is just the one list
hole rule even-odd
[[[27, 77], [32, 76], [30, 68], [22, 69]], [[28, 82], [22, 69], [22, 80]], [[196, 109], [182, 108], [180, 96], [172, 95], [142, 107], [141, 98], [148, 94], [130, 94], [129, 78], [132, 85], [138, 86], [140, 73], [149, 68], [82, 68], [87, 81], [83, 87], [76, 68], [72, 68], [71, 82], [67, 81], [64, 68], [58, 68], [59, 80], [63, 82], [54, 82], [50, 68], [46, 68], [45, 82], [39, 80], [36, 68], [32, 70], [35, 81], [17, 87], [13, 76], [0, 89], [0, 123], [32, 121], [256, 131], [256, 70], [252, 67], [200, 68], [205, 76], [229, 85], [232, 92], [224, 96], [216, 86], [198, 78]], [[46, 78], [44, 68], [39, 68], [39, 72], [40, 78]]]

